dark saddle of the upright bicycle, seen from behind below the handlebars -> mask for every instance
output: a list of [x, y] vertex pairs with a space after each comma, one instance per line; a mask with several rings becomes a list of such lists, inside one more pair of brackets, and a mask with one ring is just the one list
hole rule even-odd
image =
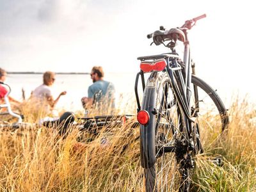
[[156, 45], [163, 44], [164, 40], [180, 40], [185, 41], [185, 35], [182, 30], [178, 28], [172, 28], [166, 31], [155, 31], [153, 33], [153, 40]]

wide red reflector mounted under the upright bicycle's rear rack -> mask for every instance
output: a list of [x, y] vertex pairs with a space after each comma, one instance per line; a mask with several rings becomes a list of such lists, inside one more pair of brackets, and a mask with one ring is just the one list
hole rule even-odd
[[167, 63], [164, 59], [152, 61], [152, 62], [141, 62], [140, 69], [143, 72], [162, 71], [166, 67]]

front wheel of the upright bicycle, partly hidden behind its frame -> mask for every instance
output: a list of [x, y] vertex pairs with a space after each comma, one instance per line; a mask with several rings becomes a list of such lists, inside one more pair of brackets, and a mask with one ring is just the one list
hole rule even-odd
[[207, 148], [207, 145], [227, 129], [228, 113], [216, 90], [209, 84], [196, 76], [191, 77], [191, 83], [193, 83], [192, 116], [197, 118], [197, 127], [194, 129], [197, 131], [196, 145], [200, 145], [197, 149], [203, 152], [202, 146]]

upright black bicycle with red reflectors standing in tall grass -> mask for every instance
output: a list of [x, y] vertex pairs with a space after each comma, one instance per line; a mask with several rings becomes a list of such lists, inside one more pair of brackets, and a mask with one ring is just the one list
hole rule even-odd
[[[207, 142], [204, 136], [217, 127], [221, 134], [228, 126], [227, 109], [216, 91], [195, 76], [195, 63], [191, 61], [187, 32], [204, 17], [187, 20], [180, 28], [166, 30], [161, 26], [147, 38], [171, 52], [138, 58], [141, 70], [136, 76], [135, 94], [146, 191], [189, 191], [194, 157], [204, 152], [202, 146]], [[184, 46], [183, 60], [175, 50], [179, 42]], [[145, 74], [149, 75], [147, 84]], [[142, 104], [138, 95], [140, 77]], [[216, 112], [207, 108], [209, 103], [201, 99], [201, 94], [209, 98]]]

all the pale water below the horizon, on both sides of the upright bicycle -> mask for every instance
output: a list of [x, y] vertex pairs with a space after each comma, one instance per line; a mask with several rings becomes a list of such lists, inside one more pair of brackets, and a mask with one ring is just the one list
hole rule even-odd
[[[115, 85], [116, 102], [122, 97], [122, 101], [124, 102], [124, 106], [122, 106], [123, 108], [126, 107], [125, 104], [127, 104], [127, 102], [134, 102], [135, 104], [135, 77], [136, 73], [110, 73], [106, 74], [106, 77], [104, 77], [106, 81], [111, 81]], [[8, 74], [6, 79], [6, 83], [10, 84], [12, 88], [12, 97], [20, 100], [22, 99], [22, 88], [24, 88], [26, 98], [28, 98], [36, 86], [42, 84], [42, 81], [42, 74]], [[247, 91], [244, 86], [237, 88], [237, 84], [231, 85], [223, 83], [222, 81], [218, 82], [216, 79], [207, 79], [206, 81], [213, 86], [213, 88], [218, 90], [218, 94], [227, 108], [230, 107], [234, 95], [239, 93], [241, 99], [243, 99], [243, 96]], [[52, 86], [54, 99], [63, 91], [67, 91], [67, 95], [61, 97], [56, 108], [63, 108], [70, 111], [83, 109], [81, 106], [81, 98], [87, 96], [87, 90], [90, 84], [92, 84], [92, 79], [90, 78], [90, 75], [87, 74], [57, 74], [56, 81]], [[141, 87], [141, 84], [139, 84], [139, 87]], [[142, 93], [141, 90], [140, 93]], [[253, 97], [253, 95], [256, 96], [256, 93], [250, 95], [251, 100], [255, 102], [255, 97]]]

